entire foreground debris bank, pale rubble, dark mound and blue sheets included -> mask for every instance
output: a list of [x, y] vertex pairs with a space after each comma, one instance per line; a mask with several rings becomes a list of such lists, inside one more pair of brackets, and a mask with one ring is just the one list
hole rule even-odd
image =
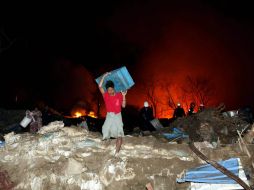
[[54, 121], [37, 132], [0, 139], [0, 189], [253, 189], [254, 126], [208, 108], [146, 136], [115, 139]]

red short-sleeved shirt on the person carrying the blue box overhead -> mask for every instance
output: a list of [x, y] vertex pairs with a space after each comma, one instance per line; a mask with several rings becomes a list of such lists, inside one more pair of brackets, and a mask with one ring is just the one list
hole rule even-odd
[[121, 112], [123, 95], [121, 93], [116, 93], [114, 96], [110, 96], [108, 92], [103, 94], [104, 102], [106, 104], [107, 112], [113, 112], [118, 114]]

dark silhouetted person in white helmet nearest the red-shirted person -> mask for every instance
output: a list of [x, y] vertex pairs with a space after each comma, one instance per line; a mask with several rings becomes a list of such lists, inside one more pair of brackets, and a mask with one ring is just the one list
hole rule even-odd
[[153, 109], [149, 106], [148, 102], [144, 102], [144, 107], [139, 112], [140, 130], [141, 131], [155, 131], [151, 124], [153, 117]]

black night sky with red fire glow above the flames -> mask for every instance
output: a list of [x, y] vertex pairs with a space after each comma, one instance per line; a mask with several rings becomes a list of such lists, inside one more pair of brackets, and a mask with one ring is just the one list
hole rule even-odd
[[136, 98], [141, 81], [156, 76], [180, 85], [187, 75], [211, 77], [216, 102], [228, 108], [253, 105], [252, 7], [216, 2], [9, 6], [0, 26], [15, 41], [0, 54], [1, 105], [19, 94], [66, 109], [96, 88], [93, 78], [122, 65], [137, 83], [129, 93], [134, 105], [143, 101]]

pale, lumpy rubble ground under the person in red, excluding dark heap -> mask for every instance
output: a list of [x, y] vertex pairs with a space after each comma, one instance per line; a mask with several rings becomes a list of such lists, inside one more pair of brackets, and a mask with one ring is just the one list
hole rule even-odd
[[[188, 189], [188, 183], [177, 184], [176, 178], [203, 163], [187, 144], [126, 136], [115, 157], [115, 140], [101, 139], [99, 133], [63, 127], [59, 121], [38, 134], [9, 133], [0, 148], [0, 172], [7, 186], [16, 190], [140, 190], [148, 183], [155, 190], [170, 190]], [[250, 168], [249, 158], [239, 154], [238, 146], [200, 149], [214, 160], [238, 157], [244, 168]]]

